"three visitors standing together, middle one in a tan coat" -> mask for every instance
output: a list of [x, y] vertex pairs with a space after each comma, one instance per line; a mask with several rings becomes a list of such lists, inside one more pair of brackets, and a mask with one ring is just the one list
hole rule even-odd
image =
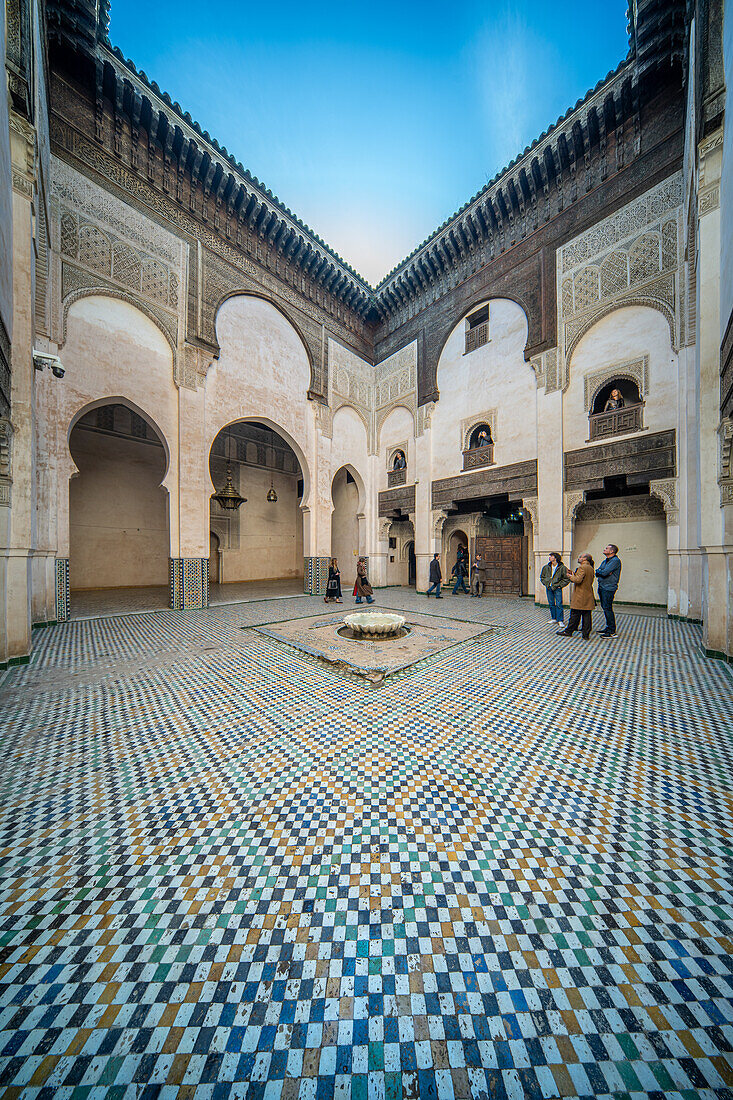
[[605, 627], [598, 632], [602, 638], [613, 638], [616, 632], [613, 600], [619, 588], [620, 576], [619, 547], [614, 546], [613, 542], [610, 542], [603, 551], [603, 561], [598, 569], [595, 569], [595, 562], [589, 553], [581, 553], [578, 558], [578, 569], [573, 572], [564, 563], [562, 554], [553, 551], [539, 574], [539, 580], [545, 585], [547, 593], [553, 625], [565, 626], [562, 590], [572, 584], [568, 626], [564, 630], [557, 631], [558, 638], [571, 638], [578, 627], [581, 628], [582, 637], [586, 640], [590, 638], [592, 612], [595, 607], [594, 579], [598, 580], [598, 595], [605, 618]]

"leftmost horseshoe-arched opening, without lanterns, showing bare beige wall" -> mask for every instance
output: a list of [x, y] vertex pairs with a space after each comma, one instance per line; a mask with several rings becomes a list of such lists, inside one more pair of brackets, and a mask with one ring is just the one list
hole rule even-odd
[[69, 483], [72, 592], [160, 586], [164, 593], [167, 452], [157, 429], [141, 411], [110, 402], [79, 417], [68, 446], [78, 469]]

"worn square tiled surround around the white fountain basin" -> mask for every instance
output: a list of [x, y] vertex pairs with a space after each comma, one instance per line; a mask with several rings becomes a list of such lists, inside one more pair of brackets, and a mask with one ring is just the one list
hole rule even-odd
[[[370, 612], [381, 609], [376, 606], [369, 608]], [[344, 672], [372, 681], [400, 672], [450, 646], [496, 631], [496, 627], [486, 626], [485, 623], [466, 623], [439, 615], [401, 612], [409, 627], [409, 632], [403, 638], [343, 638], [338, 630], [343, 626], [344, 616], [353, 613], [353, 607], [344, 607], [338, 612], [325, 612], [322, 615], [289, 619], [286, 623], [270, 623], [253, 629], [319, 657]]]

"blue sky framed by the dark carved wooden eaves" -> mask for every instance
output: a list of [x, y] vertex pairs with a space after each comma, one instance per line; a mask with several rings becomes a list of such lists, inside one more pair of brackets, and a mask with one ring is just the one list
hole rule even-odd
[[371, 283], [626, 55], [626, 0], [112, 0], [110, 38]]

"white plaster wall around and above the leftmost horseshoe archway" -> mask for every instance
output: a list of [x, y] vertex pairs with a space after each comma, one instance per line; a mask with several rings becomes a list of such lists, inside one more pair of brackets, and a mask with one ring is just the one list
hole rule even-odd
[[48, 440], [59, 463], [59, 556], [68, 550], [67, 485], [74, 469], [68, 451], [72, 422], [95, 403], [122, 399], [122, 404], [130, 404], [154, 425], [167, 449], [164, 485], [171, 495], [169, 552], [171, 557], [177, 557], [178, 402], [167, 340], [134, 306], [95, 295], [80, 298], [70, 307], [61, 354], [66, 375], [63, 383], [56, 383], [55, 438]]

